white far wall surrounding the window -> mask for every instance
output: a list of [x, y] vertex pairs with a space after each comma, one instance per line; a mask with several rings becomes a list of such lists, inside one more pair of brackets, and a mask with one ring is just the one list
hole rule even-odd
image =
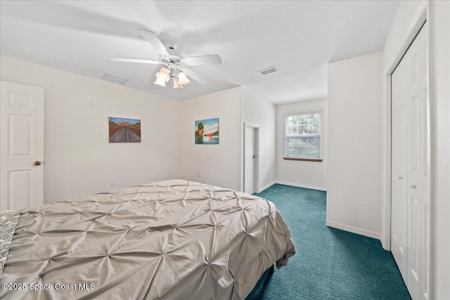
[[[285, 160], [285, 116], [321, 113], [322, 162]], [[327, 187], [327, 100], [316, 99], [276, 105], [276, 179], [278, 183], [326, 190]], [[303, 171], [303, 174], [301, 174]]]

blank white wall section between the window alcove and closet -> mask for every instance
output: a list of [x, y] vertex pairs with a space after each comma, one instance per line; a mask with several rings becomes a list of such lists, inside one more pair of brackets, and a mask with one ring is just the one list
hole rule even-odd
[[328, 65], [327, 225], [380, 237], [381, 52]]

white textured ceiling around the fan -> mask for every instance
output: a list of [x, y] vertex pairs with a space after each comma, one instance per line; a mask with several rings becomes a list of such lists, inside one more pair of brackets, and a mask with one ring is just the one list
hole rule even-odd
[[[399, 1], [4, 1], [0, 52], [178, 100], [245, 86], [285, 103], [326, 96], [326, 65], [380, 51]], [[117, 63], [110, 56], [158, 59], [139, 28], [173, 40], [182, 56], [219, 54], [221, 65], [192, 66], [208, 80], [185, 89], [156, 86], [160, 65]], [[279, 72], [257, 71], [276, 66]], [[1, 66], [0, 66], [1, 67]]]

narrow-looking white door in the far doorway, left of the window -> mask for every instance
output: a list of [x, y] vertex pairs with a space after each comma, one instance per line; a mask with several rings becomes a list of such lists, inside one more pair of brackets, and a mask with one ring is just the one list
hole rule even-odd
[[244, 193], [257, 192], [258, 128], [245, 124], [244, 132]]

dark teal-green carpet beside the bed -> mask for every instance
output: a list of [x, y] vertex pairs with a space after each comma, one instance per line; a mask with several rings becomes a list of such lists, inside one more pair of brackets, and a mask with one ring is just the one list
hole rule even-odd
[[325, 225], [326, 192], [276, 184], [255, 195], [281, 211], [297, 252], [256, 299], [411, 299], [379, 240]]

